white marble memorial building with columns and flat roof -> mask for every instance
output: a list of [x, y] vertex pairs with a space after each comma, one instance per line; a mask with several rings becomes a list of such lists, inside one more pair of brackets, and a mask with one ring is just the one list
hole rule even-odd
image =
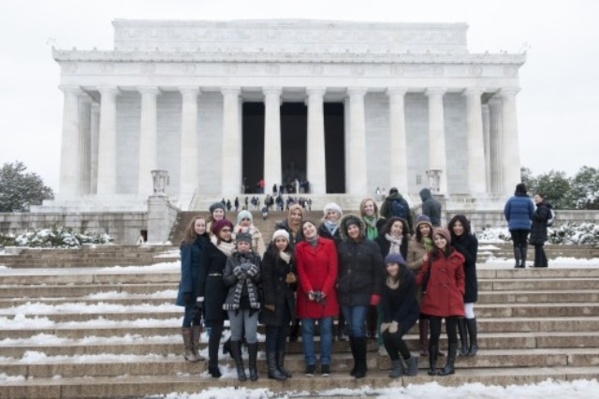
[[[183, 209], [264, 179], [359, 200], [397, 187], [503, 200], [520, 181], [525, 54], [468, 51], [464, 23], [117, 19], [110, 50], [53, 49], [64, 93], [56, 205]], [[91, 204], [91, 205], [90, 205]]]

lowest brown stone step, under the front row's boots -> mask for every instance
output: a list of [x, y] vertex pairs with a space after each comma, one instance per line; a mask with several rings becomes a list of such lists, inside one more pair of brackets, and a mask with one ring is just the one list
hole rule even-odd
[[[319, 395], [333, 389], [360, 389], [369, 386], [374, 389], [401, 387], [409, 384], [437, 382], [444, 386], [459, 386], [467, 383], [485, 385], [533, 384], [553, 378], [561, 381], [596, 378], [596, 367], [555, 367], [555, 368], [505, 368], [457, 370], [447, 377], [431, 377], [421, 371], [415, 377], [402, 377], [392, 380], [387, 371], [371, 371], [366, 378], [355, 380], [346, 373], [334, 372], [330, 377], [305, 377], [296, 375], [285, 382], [269, 380], [264, 375], [256, 382], [240, 383], [229, 371], [223, 378], [207, 377], [205, 372], [189, 375], [164, 376], [123, 376], [97, 378], [34, 378], [23, 381], [10, 381], [2, 385], [2, 398], [132, 398], [147, 395], [160, 395], [172, 392], [200, 392], [208, 388], [262, 388], [285, 394], [289, 391], [303, 392], [305, 396]], [[264, 373], [263, 373], [264, 374]]]

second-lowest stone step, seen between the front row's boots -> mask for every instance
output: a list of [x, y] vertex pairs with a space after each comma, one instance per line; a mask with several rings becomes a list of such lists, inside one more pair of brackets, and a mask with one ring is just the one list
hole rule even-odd
[[[247, 354], [244, 354], [247, 366]], [[414, 356], [417, 356], [415, 353]], [[576, 349], [539, 349], [527, 351], [482, 351], [474, 357], [458, 357], [456, 368], [481, 369], [481, 368], [506, 368], [506, 367], [590, 367], [597, 366], [599, 350]], [[442, 365], [443, 360], [439, 361]], [[219, 360], [223, 368], [233, 368], [234, 362], [228, 356]], [[266, 361], [264, 354], [259, 353], [258, 370], [266, 374]], [[199, 363], [186, 362], [180, 354], [161, 355], [77, 355], [76, 357], [55, 356], [43, 357], [39, 360], [8, 363], [0, 362], [0, 368], [8, 376], [23, 376], [29, 378], [51, 378], [60, 375], [62, 378], [74, 377], [120, 377], [123, 375], [137, 376], [164, 376], [181, 373], [197, 374], [205, 369], [205, 361]], [[334, 354], [331, 362], [333, 373], [343, 374], [353, 367], [353, 358], [349, 353]], [[371, 371], [391, 369], [388, 356], [379, 356], [376, 353], [368, 354], [368, 368]], [[286, 368], [294, 374], [304, 371], [303, 356], [288, 355]], [[419, 368], [428, 368], [428, 359], [421, 358]]]

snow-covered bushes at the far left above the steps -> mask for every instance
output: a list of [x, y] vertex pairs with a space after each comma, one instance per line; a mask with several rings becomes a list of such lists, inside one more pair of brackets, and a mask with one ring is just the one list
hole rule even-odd
[[28, 231], [18, 236], [0, 234], [0, 246], [29, 248], [73, 248], [82, 244], [110, 244], [112, 237], [105, 233], [76, 233], [69, 227], [54, 226], [50, 229]]

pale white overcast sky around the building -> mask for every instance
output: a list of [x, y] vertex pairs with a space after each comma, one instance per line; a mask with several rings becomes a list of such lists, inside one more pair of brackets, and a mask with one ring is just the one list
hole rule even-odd
[[58, 189], [62, 93], [51, 47], [112, 49], [115, 18], [465, 22], [470, 52], [521, 52], [520, 158], [534, 174], [599, 167], [599, 1], [2, 0], [0, 163]]

